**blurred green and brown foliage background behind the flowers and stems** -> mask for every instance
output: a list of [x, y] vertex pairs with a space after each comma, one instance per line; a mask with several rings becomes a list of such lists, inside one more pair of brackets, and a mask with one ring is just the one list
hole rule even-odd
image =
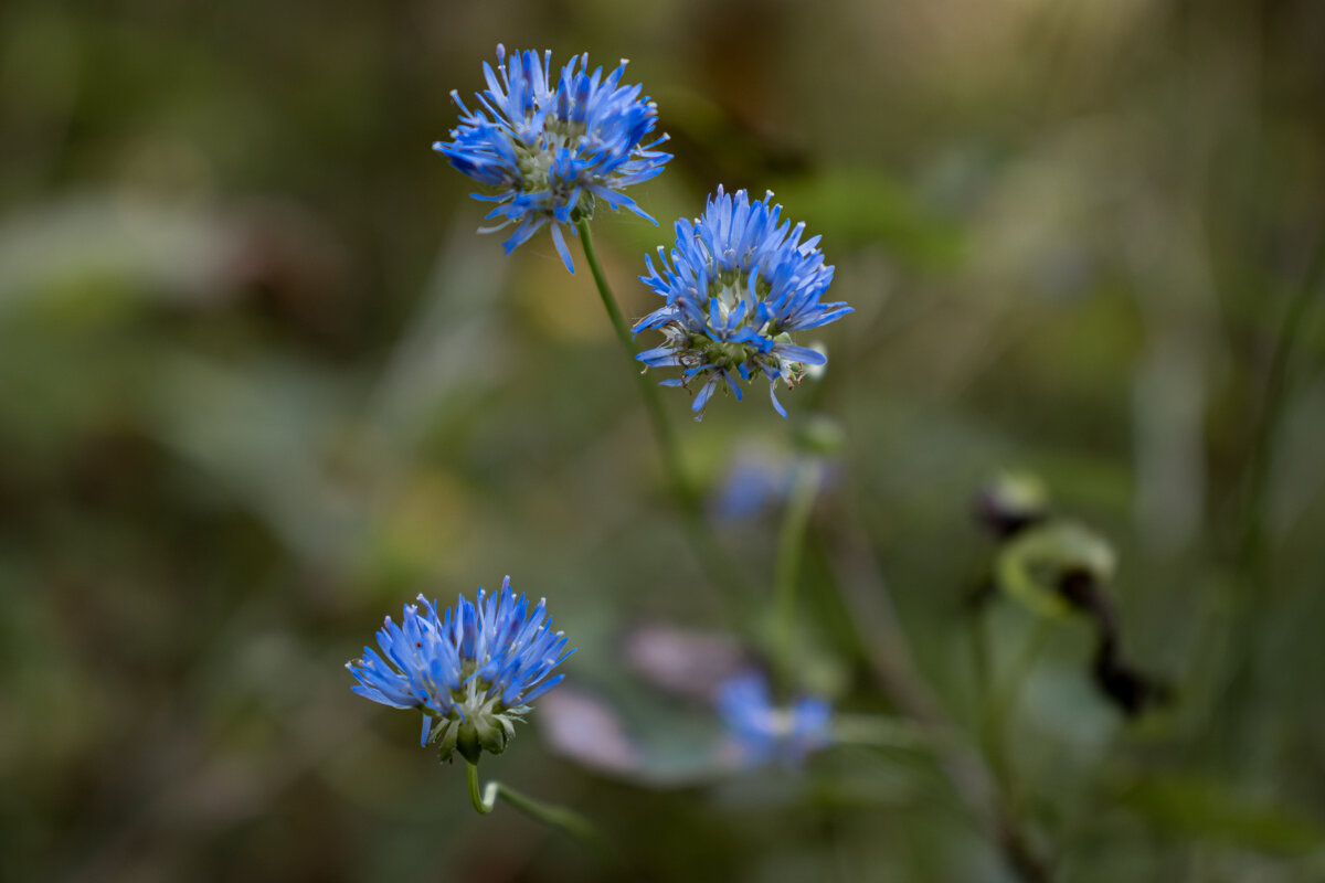
[[[661, 226], [595, 220], [628, 315], [718, 183], [823, 234], [856, 314], [791, 420], [666, 397], [714, 494], [816, 413], [844, 430], [803, 686], [889, 708], [833, 588], [881, 575], [978, 731], [970, 498], [1032, 470], [1114, 544], [1126, 653], [1177, 695], [1129, 724], [1086, 626], [1034, 638], [1007, 745], [1035, 845], [1063, 880], [1325, 879], [1312, 0], [4, 4], [0, 876], [1012, 879], [924, 755], [714, 767], [708, 711], [631, 662], [641, 626], [727, 647], [776, 504], [714, 514], [746, 585], [713, 585], [587, 273], [474, 236], [429, 144], [497, 42], [631, 58], [659, 102], [676, 159], [632, 196]], [[628, 872], [476, 815], [415, 715], [348, 690], [383, 614], [505, 573], [579, 651], [484, 772]], [[984, 617], [996, 676], [1041, 626]]]

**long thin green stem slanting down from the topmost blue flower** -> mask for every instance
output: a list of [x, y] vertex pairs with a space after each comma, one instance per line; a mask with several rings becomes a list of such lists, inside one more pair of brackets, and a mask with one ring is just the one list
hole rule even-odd
[[722, 589], [718, 594], [735, 612], [739, 609], [735, 590], [745, 585], [745, 577], [727, 561], [726, 555], [713, 540], [712, 532], [704, 524], [700, 494], [690, 483], [685, 466], [681, 462], [681, 449], [677, 445], [676, 433], [672, 430], [666, 412], [662, 409], [657, 384], [649, 380], [641, 371], [636, 371], [640, 363], [635, 359], [635, 340], [631, 336], [631, 330], [625, 324], [624, 316], [621, 316], [621, 308], [616, 306], [612, 286], [607, 283], [607, 275], [603, 274], [603, 266], [598, 261], [598, 252], [594, 249], [594, 237], [590, 233], [588, 221], [580, 218], [575, 229], [579, 230], [580, 245], [584, 246], [584, 259], [588, 261], [588, 269], [594, 274], [598, 297], [603, 301], [603, 308], [607, 311], [607, 318], [612, 322], [616, 339], [621, 342], [621, 348], [631, 363], [631, 373], [635, 375], [639, 383], [640, 396], [644, 398], [644, 408], [648, 410], [649, 424], [653, 426], [653, 437], [657, 440], [659, 451], [662, 455], [662, 469], [666, 471], [672, 495], [681, 506], [686, 539], [694, 547], [700, 561], [713, 581]]

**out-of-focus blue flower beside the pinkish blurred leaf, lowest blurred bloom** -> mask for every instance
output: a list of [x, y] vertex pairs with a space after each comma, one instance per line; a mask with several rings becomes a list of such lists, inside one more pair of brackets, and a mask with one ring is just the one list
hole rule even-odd
[[718, 687], [717, 707], [727, 731], [750, 763], [798, 764], [832, 741], [832, 708], [823, 699], [803, 698], [775, 708], [763, 675], [747, 671]]

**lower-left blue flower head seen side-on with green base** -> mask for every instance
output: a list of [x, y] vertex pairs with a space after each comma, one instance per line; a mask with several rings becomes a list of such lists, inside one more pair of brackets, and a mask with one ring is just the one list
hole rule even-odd
[[[419, 596], [400, 625], [387, 617], [378, 630], [379, 655], [363, 649], [346, 669], [359, 680], [356, 694], [392, 708], [421, 708], [421, 745], [437, 743], [441, 760], [456, 751], [472, 764], [484, 751], [500, 755], [523, 720], [529, 703], [564, 675], [551, 674], [572, 650], [551, 630], [545, 601], [533, 613], [525, 596], [515, 598], [510, 577], [498, 594], [456, 606], [437, 616], [436, 602]], [[436, 719], [436, 721], [433, 720]]]

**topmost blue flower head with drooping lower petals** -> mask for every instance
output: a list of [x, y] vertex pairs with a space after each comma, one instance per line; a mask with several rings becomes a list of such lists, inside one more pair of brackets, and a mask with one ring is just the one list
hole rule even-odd
[[496, 224], [481, 232], [515, 225], [506, 254], [550, 224], [575, 273], [562, 224], [592, 217], [598, 200], [653, 220], [620, 189], [653, 177], [672, 155], [653, 150], [666, 135], [643, 143], [657, 124], [657, 105], [640, 97], [641, 86], [623, 86], [624, 71], [621, 61], [606, 77], [602, 68], [591, 74], [586, 54], [571, 58], [554, 82], [551, 50], [542, 60], [535, 52], [507, 57], [498, 45], [497, 71], [484, 62], [488, 90], [476, 93], [474, 110], [450, 93], [460, 126], [452, 140], [432, 147], [482, 185], [476, 200], [497, 203], [488, 214]]

